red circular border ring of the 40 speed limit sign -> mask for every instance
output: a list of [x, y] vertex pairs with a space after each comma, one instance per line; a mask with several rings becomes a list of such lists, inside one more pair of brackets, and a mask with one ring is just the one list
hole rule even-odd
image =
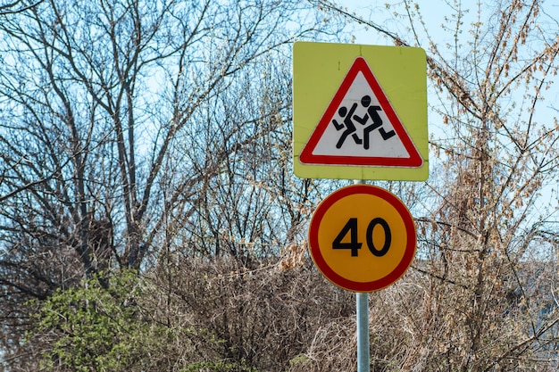
[[[339, 200], [352, 194], [371, 194], [378, 196], [390, 203], [404, 220], [405, 233], [407, 235], [404, 257], [400, 260], [400, 263], [398, 263], [396, 268], [393, 269], [387, 276], [371, 282], [355, 282], [354, 280], [349, 280], [346, 277], [340, 276], [336, 271], [330, 268], [326, 260], [324, 260], [319, 246], [319, 229], [324, 214], [334, 203], [337, 203]], [[407, 210], [405, 204], [398, 199], [396, 195], [377, 186], [351, 185], [333, 192], [318, 205], [316, 211], [313, 213], [313, 218], [311, 219], [311, 223], [309, 225], [309, 245], [311, 256], [313, 257], [314, 263], [321, 271], [322, 275], [327, 277], [333, 284], [354, 292], [378, 291], [396, 282], [396, 280], [405, 274], [405, 271], [412, 264], [413, 256], [415, 255], [416, 243], [417, 235], [415, 232], [415, 224], [413, 223], [413, 217], [410, 214], [410, 211]]]

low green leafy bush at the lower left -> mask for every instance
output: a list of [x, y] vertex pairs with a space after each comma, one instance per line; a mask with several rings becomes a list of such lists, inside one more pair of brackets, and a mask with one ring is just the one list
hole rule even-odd
[[137, 363], [142, 336], [151, 333], [138, 317], [140, 282], [131, 271], [109, 280], [108, 288], [94, 277], [59, 289], [39, 305], [34, 333], [53, 341], [42, 354], [42, 368], [109, 372]]

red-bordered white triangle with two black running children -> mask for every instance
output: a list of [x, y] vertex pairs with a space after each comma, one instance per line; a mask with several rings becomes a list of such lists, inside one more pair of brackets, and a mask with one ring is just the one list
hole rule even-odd
[[299, 154], [304, 164], [419, 168], [423, 158], [363, 57]]

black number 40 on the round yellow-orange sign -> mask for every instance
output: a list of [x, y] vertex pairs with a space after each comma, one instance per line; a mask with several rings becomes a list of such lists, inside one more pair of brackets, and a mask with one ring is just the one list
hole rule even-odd
[[[372, 238], [372, 232], [377, 225], [384, 230], [384, 244], [382, 248], [378, 249], [374, 243]], [[344, 238], [349, 234], [349, 242], [342, 242]], [[369, 251], [376, 257], [382, 257], [387, 254], [388, 249], [390, 248], [390, 244], [392, 242], [392, 234], [390, 233], [390, 227], [386, 220], [381, 219], [380, 217], [376, 219], [371, 219], [369, 222], [369, 226], [367, 227], [367, 246], [369, 247]], [[357, 235], [357, 219], [351, 218], [347, 220], [347, 223], [344, 227], [342, 227], [341, 231], [339, 232], [338, 236], [332, 242], [332, 249], [350, 249], [352, 257], [357, 257], [358, 250], [361, 249], [362, 243], [358, 242], [359, 238]]]

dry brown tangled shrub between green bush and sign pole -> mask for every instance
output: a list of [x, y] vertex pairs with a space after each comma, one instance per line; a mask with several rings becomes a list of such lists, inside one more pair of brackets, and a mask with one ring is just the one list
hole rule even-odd
[[310, 260], [290, 269], [279, 261], [247, 268], [223, 258], [170, 265], [154, 275], [158, 292], [167, 293], [161, 316], [172, 313], [171, 322], [181, 318], [213, 335], [221, 360], [294, 372], [355, 363], [353, 294], [327, 282]]

